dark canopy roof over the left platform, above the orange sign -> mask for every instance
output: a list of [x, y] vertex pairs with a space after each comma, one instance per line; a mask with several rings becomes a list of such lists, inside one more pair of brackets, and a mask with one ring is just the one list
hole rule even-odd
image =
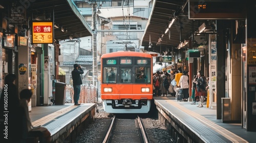
[[92, 36], [92, 29], [72, 0], [36, 0], [26, 1], [26, 3], [9, 0], [0, 4], [10, 7], [12, 3], [23, 8], [26, 5], [26, 17], [33, 17], [33, 20], [53, 21], [54, 19], [54, 39], [57, 41], [69, 39], [70, 36], [72, 38]]

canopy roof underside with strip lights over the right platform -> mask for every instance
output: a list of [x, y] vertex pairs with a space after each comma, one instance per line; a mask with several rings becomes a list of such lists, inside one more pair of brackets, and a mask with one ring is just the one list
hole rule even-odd
[[[154, 2], [141, 45], [146, 51], [160, 53], [160, 49], [172, 51], [172, 48], [176, 51], [181, 42], [191, 37], [193, 30], [198, 30], [199, 20], [188, 19], [187, 0], [156, 0]], [[175, 20], [172, 26], [165, 34], [166, 28], [173, 19]], [[148, 49], [150, 42], [152, 47]]]

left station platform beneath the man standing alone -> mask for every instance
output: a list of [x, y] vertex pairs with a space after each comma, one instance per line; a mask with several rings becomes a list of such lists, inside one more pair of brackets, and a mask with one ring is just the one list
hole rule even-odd
[[32, 107], [30, 118], [33, 126], [49, 130], [51, 142], [73, 142], [76, 133], [93, 121], [95, 108], [94, 103]]

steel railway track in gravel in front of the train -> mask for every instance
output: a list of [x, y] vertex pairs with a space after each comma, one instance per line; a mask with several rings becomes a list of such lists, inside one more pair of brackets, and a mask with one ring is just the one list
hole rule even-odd
[[104, 133], [98, 136], [97, 142], [150, 142], [143, 121], [139, 116], [136, 119], [113, 116], [112, 120], [106, 123], [106, 126], [109, 126], [106, 128], [108, 130], [102, 131]]

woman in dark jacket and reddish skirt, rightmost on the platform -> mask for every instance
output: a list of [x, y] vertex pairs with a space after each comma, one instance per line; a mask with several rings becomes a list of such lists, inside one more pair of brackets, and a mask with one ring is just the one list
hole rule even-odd
[[201, 71], [198, 71], [197, 73], [197, 77], [198, 80], [196, 81], [197, 84], [197, 96], [200, 99], [200, 103], [197, 107], [203, 107], [203, 103], [204, 103], [204, 97], [206, 96], [206, 91], [205, 91], [205, 87], [206, 87], [206, 81], [203, 78], [203, 75], [201, 73]]

